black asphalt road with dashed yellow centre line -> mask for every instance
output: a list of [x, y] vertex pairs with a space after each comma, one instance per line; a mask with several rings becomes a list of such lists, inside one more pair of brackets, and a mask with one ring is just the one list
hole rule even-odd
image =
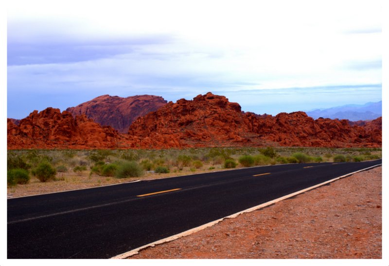
[[7, 257], [111, 258], [381, 163], [250, 167], [9, 199]]

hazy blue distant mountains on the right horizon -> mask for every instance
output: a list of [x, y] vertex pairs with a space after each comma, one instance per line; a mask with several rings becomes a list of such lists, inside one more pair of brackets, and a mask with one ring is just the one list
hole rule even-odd
[[314, 119], [319, 117], [331, 119], [349, 119], [350, 121], [372, 120], [382, 116], [382, 101], [365, 104], [347, 104], [328, 109], [316, 109], [306, 112]]

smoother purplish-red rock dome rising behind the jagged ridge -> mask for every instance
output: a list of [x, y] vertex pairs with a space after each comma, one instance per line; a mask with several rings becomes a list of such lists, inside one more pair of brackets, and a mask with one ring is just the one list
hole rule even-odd
[[135, 119], [156, 111], [166, 103], [162, 97], [153, 95], [127, 98], [103, 95], [76, 107], [70, 107], [66, 111], [73, 116], [85, 114], [101, 125], [111, 126], [120, 133], [127, 133], [128, 127]]

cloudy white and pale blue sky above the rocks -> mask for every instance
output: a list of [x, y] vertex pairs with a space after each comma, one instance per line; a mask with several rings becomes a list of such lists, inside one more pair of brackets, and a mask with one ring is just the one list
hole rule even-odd
[[7, 117], [103, 94], [272, 115], [382, 98], [378, 0], [7, 3]]

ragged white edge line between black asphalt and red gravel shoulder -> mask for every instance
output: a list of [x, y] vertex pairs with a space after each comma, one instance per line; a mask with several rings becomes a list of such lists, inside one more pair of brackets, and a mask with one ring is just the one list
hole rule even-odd
[[278, 202], [278, 201], [286, 200], [286, 199], [288, 199], [288, 198], [291, 198], [291, 197], [294, 197], [294, 196], [299, 195], [299, 194], [301, 194], [301, 193], [304, 193], [304, 192], [306, 192], [306, 191], [308, 191], [308, 190], [317, 188], [317, 187], [322, 186], [322, 185], [325, 185], [325, 184], [327, 184], [327, 183], [334, 182], [334, 181], [336, 181], [336, 180], [339, 180], [339, 179], [341, 179], [341, 178], [344, 178], [344, 177], [353, 175], [353, 174], [358, 173], [358, 172], [366, 171], [366, 170], [368, 170], [368, 169], [371, 169], [371, 168], [374, 168], [374, 167], [377, 167], [377, 166], [382, 166], [382, 164], [375, 165], [375, 166], [370, 166], [370, 167], [367, 167], [367, 168], [364, 168], [364, 169], [361, 169], [361, 170], [358, 170], [358, 171], [355, 171], [355, 172], [352, 172], [352, 173], [345, 174], [345, 175], [343, 175], [343, 176], [336, 177], [336, 178], [331, 179], [331, 180], [328, 180], [328, 181], [326, 181], [326, 182], [319, 183], [319, 184], [317, 184], [317, 185], [314, 185], [314, 186], [311, 186], [311, 187], [308, 187], [308, 188], [304, 188], [304, 189], [302, 189], [302, 190], [300, 190], [300, 191], [297, 191], [297, 192], [294, 192], [294, 193], [285, 195], [285, 196], [283, 196], [283, 197], [281, 197], [281, 198], [278, 198], [278, 199], [275, 199], [275, 200], [270, 200], [270, 201], [268, 201], [268, 202], [265, 202], [265, 203], [262, 203], [262, 204], [260, 204], [260, 205], [251, 207], [251, 208], [246, 209], [246, 210], [244, 210], [244, 211], [241, 211], [241, 212], [232, 214], [232, 215], [230, 215], [230, 216], [226, 216], [226, 217], [224, 217], [224, 218], [220, 218], [220, 219], [217, 219], [217, 220], [215, 220], [215, 221], [212, 221], [212, 222], [209, 222], [209, 223], [200, 225], [200, 226], [198, 226], [198, 227], [189, 229], [189, 230], [187, 230], [187, 231], [185, 231], [185, 232], [178, 233], [178, 234], [175, 234], [175, 235], [172, 235], [172, 236], [163, 238], [163, 239], [158, 240], [158, 241], [155, 241], [155, 242], [153, 242], [153, 243], [149, 243], [149, 244], [147, 244], [147, 245], [141, 246], [141, 247], [139, 247], [139, 248], [137, 248], [137, 249], [132, 249], [132, 250], [127, 251], [127, 252], [125, 252], [125, 253], [122, 253], [122, 254], [119, 254], [119, 255], [117, 255], [117, 256], [114, 256], [114, 257], [112, 257], [111, 259], [125, 259], [125, 258], [128, 258], [128, 257], [131, 257], [131, 256], [133, 256], [133, 255], [135, 255], [135, 254], [138, 254], [139, 251], [140, 251], [141, 249], [146, 249], [146, 248], [148, 248], [148, 247], [154, 247], [155, 245], [159, 245], [159, 244], [163, 244], [163, 243], [166, 243], [166, 242], [170, 242], [170, 241], [176, 240], [177, 238], [180, 238], [180, 237], [183, 237], [183, 236], [187, 236], [187, 235], [190, 235], [190, 234], [192, 234], [192, 233], [199, 232], [199, 231], [201, 231], [201, 230], [203, 230], [203, 229], [206, 229], [207, 227], [211, 227], [211, 226], [213, 226], [213, 225], [215, 225], [215, 224], [221, 222], [221, 221], [224, 220], [224, 219], [227, 219], [227, 218], [235, 218], [235, 217], [237, 217], [237, 216], [239, 216], [239, 215], [241, 215], [241, 214], [249, 213], [249, 212], [252, 212], [252, 211], [255, 211], [255, 210], [264, 208], [264, 207], [269, 206], [269, 205], [271, 205], [271, 204], [274, 204], [274, 203], [276, 203], [276, 202]]

